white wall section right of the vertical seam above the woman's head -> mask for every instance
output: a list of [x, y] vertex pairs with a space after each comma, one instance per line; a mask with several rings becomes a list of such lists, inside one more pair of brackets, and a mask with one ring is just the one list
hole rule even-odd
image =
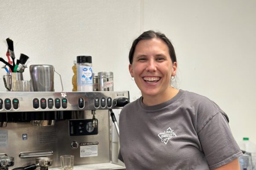
[[237, 142], [256, 143], [256, 1], [144, 1], [143, 30], [165, 33], [177, 54], [179, 86], [215, 101]]

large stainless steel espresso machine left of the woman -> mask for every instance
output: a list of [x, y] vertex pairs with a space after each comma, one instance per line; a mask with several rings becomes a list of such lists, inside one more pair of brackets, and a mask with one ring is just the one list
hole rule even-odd
[[44, 157], [60, 167], [61, 155], [74, 155], [75, 166], [113, 163], [110, 110], [128, 101], [128, 91], [0, 92], [0, 169]]

